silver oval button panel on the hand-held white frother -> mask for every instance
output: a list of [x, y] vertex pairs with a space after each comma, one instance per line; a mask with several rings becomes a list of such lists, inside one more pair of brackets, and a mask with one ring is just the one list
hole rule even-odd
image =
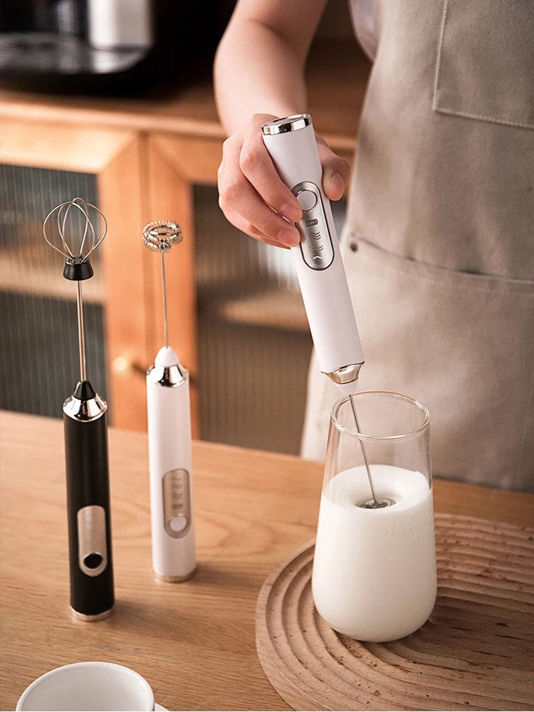
[[315, 183], [303, 181], [293, 186], [293, 194], [303, 209], [296, 223], [303, 260], [312, 269], [326, 269], [333, 262], [334, 248], [320, 190]]

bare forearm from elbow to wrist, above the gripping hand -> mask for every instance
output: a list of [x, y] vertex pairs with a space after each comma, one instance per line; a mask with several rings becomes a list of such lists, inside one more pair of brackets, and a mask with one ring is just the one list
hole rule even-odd
[[216, 55], [219, 117], [230, 135], [255, 113], [288, 116], [305, 111], [305, 56], [273, 28], [255, 19], [230, 23]]

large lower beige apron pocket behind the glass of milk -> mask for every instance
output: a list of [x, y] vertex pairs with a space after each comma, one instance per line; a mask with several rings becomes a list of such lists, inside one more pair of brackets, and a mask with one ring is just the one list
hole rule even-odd
[[436, 474], [533, 490], [534, 282], [426, 265], [346, 234], [342, 254], [365, 355], [359, 388], [429, 407]]

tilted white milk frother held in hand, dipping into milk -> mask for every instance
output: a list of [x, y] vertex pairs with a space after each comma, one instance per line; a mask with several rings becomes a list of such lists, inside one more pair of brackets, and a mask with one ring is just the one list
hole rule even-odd
[[[261, 132], [278, 174], [303, 210], [302, 219], [296, 223], [300, 244], [291, 251], [320, 370], [342, 394], [351, 396], [360, 432], [352, 394], [364, 358], [330, 201], [323, 191], [323, 167], [312, 120], [309, 114], [274, 119], [263, 124]], [[367, 451], [362, 441], [360, 445], [372, 493], [365, 506], [387, 506], [388, 501], [375, 496]]]

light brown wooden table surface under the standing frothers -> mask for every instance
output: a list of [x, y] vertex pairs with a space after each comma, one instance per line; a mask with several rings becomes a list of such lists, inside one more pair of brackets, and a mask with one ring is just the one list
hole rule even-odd
[[[254, 612], [268, 573], [315, 533], [320, 464], [196, 443], [199, 570], [163, 584], [150, 565], [147, 437], [111, 429], [117, 607], [88, 624], [68, 608], [61, 421], [2, 412], [0, 447], [0, 708], [56, 666], [105, 660], [140, 672], [172, 710], [288, 709], [258, 662]], [[436, 480], [434, 503], [533, 523], [532, 495]]]

